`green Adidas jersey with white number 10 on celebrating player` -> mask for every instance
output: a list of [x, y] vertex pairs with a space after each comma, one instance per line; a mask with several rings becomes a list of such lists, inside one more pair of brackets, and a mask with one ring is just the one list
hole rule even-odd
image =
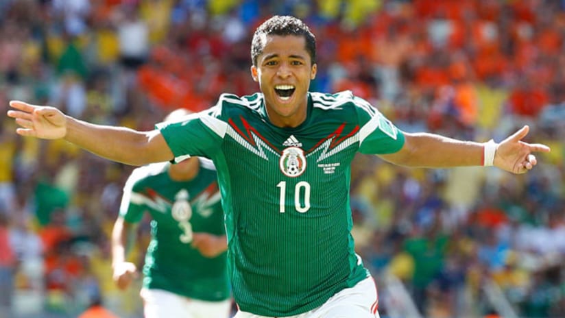
[[369, 276], [350, 234], [350, 164], [404, 135], [350, 92], [309, 93], [298, 127], [270, 123], [261, 93], [157, 127], [174, 156], [211, 158], [226, 213], [228, 267], [243, 311], [288, 316]]

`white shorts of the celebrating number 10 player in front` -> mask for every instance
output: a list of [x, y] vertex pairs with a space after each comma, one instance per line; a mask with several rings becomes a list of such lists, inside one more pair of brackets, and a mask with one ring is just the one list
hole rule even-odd
[[[322, 306], [300, 315], [285, 318], [379, 318], [378, 297], [372, 277], [339, 291]], [[276, 318], [253, 315], [241, 310], [234, 318]]]

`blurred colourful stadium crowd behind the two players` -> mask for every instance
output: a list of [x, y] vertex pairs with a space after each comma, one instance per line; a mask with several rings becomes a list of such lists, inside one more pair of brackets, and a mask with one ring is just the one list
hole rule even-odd
[[[151, 130], [256, 92], [250, 42], [273, 14], [317, 36], [311, 90], [352, 90], [407, 132], [501, 141], [527, 124], [552, 147], [527, 175], [359, 155], [354, 236], [381, 317], [565, 317], [565, 1], [0, 0], [0, 109]], [[118, 291], [110, 267], [133, 167], [0, 127], [0, 317], [77, 317], [97, 299], [142, 317], [139, 282]]]

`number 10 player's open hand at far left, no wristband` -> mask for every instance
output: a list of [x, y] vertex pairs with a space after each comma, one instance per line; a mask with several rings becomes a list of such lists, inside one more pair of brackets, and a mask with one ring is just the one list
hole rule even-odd
[[16, 119], [21, 128], [16, 133], [43, 139], [64, 138], [67, 134], [67, 117], [57, 108], [37, 106], [23, 101], [10, 101], [8, 117]]

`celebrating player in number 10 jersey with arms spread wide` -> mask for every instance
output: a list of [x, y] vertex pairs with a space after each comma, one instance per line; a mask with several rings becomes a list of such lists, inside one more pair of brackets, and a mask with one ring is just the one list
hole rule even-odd
[[251, 75], [261, 93], [224, 94], [210, 110], [149, 132], [93, 125], [48, 106], [11, 101], [23, 136], [64, 138], [127, 164], [211, 158], [226, 213], [237, 318], [378, 317], [374, 282], [354, 252], [350, 164], [357, 152], [409, 167], [494, 165], [526, 173], [533, 151], [522, 127], [501, 143], [407, 133], [346, 91], [309, 92], [315, 37], [291, 16], [261, 24]]

